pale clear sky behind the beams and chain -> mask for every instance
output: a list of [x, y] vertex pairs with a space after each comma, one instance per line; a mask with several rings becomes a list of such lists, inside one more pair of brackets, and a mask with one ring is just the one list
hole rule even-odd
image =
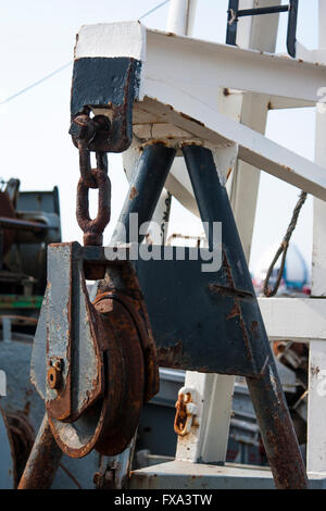
[[[159, 0], [0, 0], [0, 102], [73, 60], [75, 35], [83, 24], [139, 18]], [[288, 3], [284, 1], [283, 3]], [[299, 2], [298, 39], [317, 46], [317, 0]], [[224, 42], [227, 0], [198, 0], [195, 37]], [[168, 7], [142, 21], [165, 29]], [[287, 15], [280, 15], [277, 51], [285, 52]], [[68, 136], [72, 66], [0, 107], [0, 177], [21, 179], [22, 190], [59, 187], [63, 240], [82, 241], [75, 220], [78, 153]], [[326, 84], [325, 84], [326, 85]], [[313, 160], [314, 109], [272, 111], [266, 135]], [[104, 234], [109, 242], [118, 216], [127, 182], [122, 158], [110, 155], [112, 221]], [[300, 190], [262, 173], [251, 263], [271, 245], [280, 242]], [[96, 194], [91, 195], [96, 205]], [[95, 211], [95, 209], [92, 210]], [[176, 201], [171, 232], [192, 234], [199, 221]], [[312, 251], [312, 198], [309, 197], [292, 237], [310, 263]]]

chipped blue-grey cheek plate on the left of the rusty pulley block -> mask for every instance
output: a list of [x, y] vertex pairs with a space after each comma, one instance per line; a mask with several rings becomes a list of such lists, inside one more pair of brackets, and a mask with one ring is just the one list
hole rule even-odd
[[[32, 377], [46, 400], [49, 414], [58, 420], [78, 417], [103, 394], [104, 386], [97, 322], [78, 260], [78, 244], [49, 248], [47, 306], [41, 309], [32, 361]], [[42, 358], [45, 350], [46, 358]], [[43, 370], [34, 367], [46, 364], [48, 371], [59, 359], [62, 360], [62, 385], [51, 389], [47, 378], [43, 379]]]

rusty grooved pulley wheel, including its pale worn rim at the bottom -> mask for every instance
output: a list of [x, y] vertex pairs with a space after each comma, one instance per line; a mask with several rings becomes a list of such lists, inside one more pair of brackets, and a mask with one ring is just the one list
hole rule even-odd
[[138, 425], [143, 401], [142, 351], [133, 319], [114, 298], [101, 297], [95, 308], [105, 350], [104, 397], [70, 424], [50, 419], [59, 446], [76, 458], [92, 448], [106, 456], [122, 452]]

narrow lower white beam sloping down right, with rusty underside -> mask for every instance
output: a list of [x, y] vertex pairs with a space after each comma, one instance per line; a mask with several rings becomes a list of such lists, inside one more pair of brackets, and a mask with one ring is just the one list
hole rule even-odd
[[[152, 99], [149, 96], [154, 96], [154, 90], [156, 98]], [[238, 144], [240, 160], [326, 200], [325, 169], [236, 123], [201, 101], [185, 96], [177, 97], [176, 92], [173, 87], [161, 87], [160, 84], [152, 91], [148, 89], [148, 97], [138, 108], [156, 115], [161, 122], [172, 123], [191, 133], [190, 140], [198, 138], [212, 147]], [[171, 104], [174, 104], [175, 110]], [[170, 191], [174, 194], [174, 190]]]

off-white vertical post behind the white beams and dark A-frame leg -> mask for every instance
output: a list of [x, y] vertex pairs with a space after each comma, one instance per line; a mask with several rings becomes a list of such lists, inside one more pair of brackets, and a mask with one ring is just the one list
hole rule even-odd
[[[279, 4], [280, 0], [242, 0], [239, 9]], [[266, 17], [268, 20], [266, 20]], [[262, 49], [274, 52], [277, 37], [278, 15], [244, 18], [239, 23], [237, 43], [243, 48]], [[253, 95], [221, 95], [218, 108], [226, 115], [243, 124], [265, 132], [267, 103]], [[254, 224], [260, 171], [238, 162], [234, 169], [230, 200], [241, 237], [244, 253], [249, 261]], [[246, 212], [243, 214], [243, 211]], [[186, 387], [196, 389], [199, 425], [190, 434], [178, 438], [176, 458], [192, 462], [225, 461], [229, 434], [235, 377], [220, 374], [187, 372]]]

